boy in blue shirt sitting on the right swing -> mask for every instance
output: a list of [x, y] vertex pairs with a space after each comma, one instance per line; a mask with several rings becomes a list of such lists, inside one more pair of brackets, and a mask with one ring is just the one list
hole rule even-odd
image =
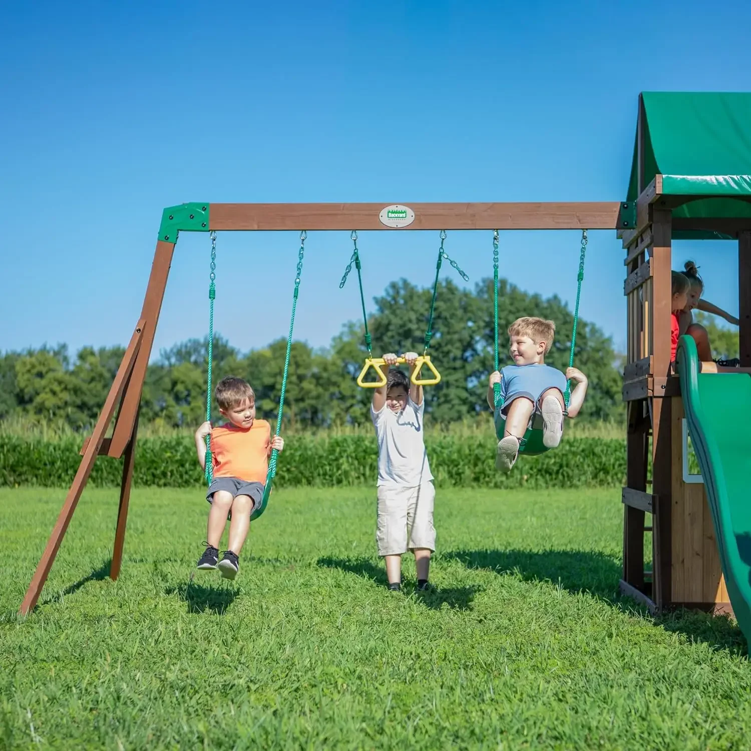
[[[542, 442], [555, 448], [563, 433], [563, 415], [575, 418], [587, 395], [587, 376], [581, 370], [560, 370], [545, 365], [545, 355], [553, 345], [556, 324], [544, 318], [517, 318], [508, 327], [513, 365], [490, 373], [487, 403], [495, 412], [496, 423], [505, 419], [502, 439], [498, 442], [496, 467], [509, 472], [519, 456], [519, 447], [529, 427], [542, 427]], [[563, 400], [566, 380], [575, 382], [569, 410]], [[496, 407], [493, 385], [501, 385], [500, 406]]]

